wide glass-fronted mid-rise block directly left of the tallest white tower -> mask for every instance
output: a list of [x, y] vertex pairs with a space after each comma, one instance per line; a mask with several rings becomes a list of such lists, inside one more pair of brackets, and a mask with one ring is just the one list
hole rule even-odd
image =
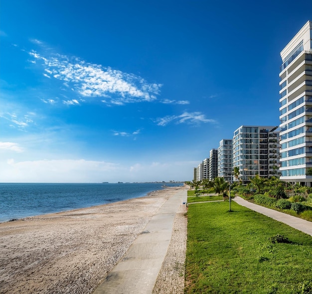
[[233, 168], [238, 167], [240, 179], [278, 176], [279, 131], [276, 126], [241, 126], [233, 137]]

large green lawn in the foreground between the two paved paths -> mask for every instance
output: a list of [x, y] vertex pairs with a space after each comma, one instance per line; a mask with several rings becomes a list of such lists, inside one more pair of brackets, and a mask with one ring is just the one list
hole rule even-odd
[[[185, 293], [312, 293], [312, 237], [228, 202], [188, 207]], [[283, 235], [291, 243], [272, 243]]]

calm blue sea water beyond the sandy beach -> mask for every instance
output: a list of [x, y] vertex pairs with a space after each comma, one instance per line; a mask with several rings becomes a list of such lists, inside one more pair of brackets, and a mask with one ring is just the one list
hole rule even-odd
[[0, 222], [142, 197], [162, 186], [163, 183], [0, 183]]

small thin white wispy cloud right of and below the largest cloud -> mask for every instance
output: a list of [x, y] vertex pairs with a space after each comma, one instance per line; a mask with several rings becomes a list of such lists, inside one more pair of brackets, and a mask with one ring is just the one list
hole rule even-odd
[[206, 119], [205, 115], [201, 112], [184, 112], [181, 115], [165, 116], [163, 118], [158, 118], [155, 121], [157, 126], [166, 126], [167, 124], [173, 122], [175, 124], [190, 124], [198, 125], [200, 123], [216, 123], [215, 120]]

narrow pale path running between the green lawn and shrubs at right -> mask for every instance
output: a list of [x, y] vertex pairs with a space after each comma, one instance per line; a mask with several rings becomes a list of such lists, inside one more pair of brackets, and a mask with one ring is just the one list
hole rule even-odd
[[301, 218], [298, 218], [298, 217], [295, 217], [295, 216], [292, 216], [283, 212], [276, 211], [274, 209], [270, 209], [267, 207], [263, 207], [261, 205], [251, 203], [239, 196], [235, 196], [235, 198], [232, 200], [235, 201], [239, 205], [245, 206], [251, 210], [262, 213], [268, 217], [271, 217], [277, 221], [280, 221], [284, 224], [287, 224], [297, 230], [300, 230], [312, 236], [312, 222], [309, 222], [307, 220], [304, 220], [304, 219], [301, 219]]

